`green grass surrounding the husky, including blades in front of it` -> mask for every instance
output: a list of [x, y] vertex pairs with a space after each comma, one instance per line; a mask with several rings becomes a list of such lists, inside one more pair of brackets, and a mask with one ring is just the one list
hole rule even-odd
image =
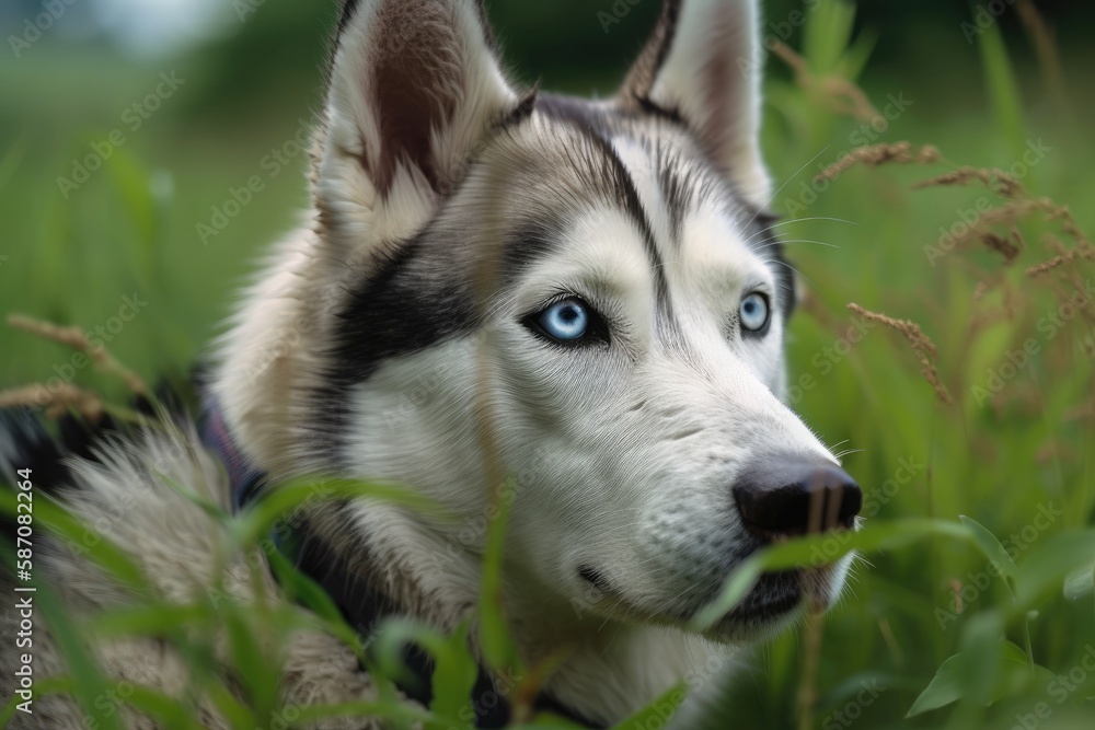
[[[819, 74], [862, 72], [879, 108], [888, 95], [907, 91], [913, 105], [877, 141], [935, 144], [953, 164], [857, 166], [825, 192], [807, 193], [819, 167], [855, 147], [863, 121], [833, 112], [826, 93], [780, 80], [785, 74], [769, 84], [765, 148], [775, 179], [786, 183], [774, 207], [788, 215], [781, 231], [795, 242], [788, 252], [808, 277], [808, 299], [788, 338], [791, 381], [798, 389], [793, 399], [828, 443], [862, 450], [849, 454], [845, 466], [864, 485], [871, 519], [866, 531], [843, 544], [815, 538], [757, 556], [731, 577], [722, 607], [731, 605], [761, 568], [810, 561], [818, 551], [832, 559], [852, 547], [862, 548], [867, 563], [823, 626], [810, 622], [754, 652], [752, 669], [726, 688], [710, 727], [739, 718], [740, 727], [823, 730], [1011, 728], [1029, 723], [1045, 703], [1052, 715], [1038, 719], [1037, 727], [1090, 728], [1095, 673], [1077, 668], [1095, 647], [1095, 304], [1060, 327], [1047, 322], [1077, 282], [1095, 279], [1095, 262], [1027, 276], [1025, 269], [1056, 255], [1045, 236], [1075, 246], [1060, 220], [1042, 216], [1018, 224], [1027, 245], [1010, 265], [978, 245], [932, 262], [925, 246], [940, 245], [941, 228], [955, 227], [981, 198], [992, 206], [1007, 201], [977, 184], [911, 186], [954, 164], [1008, 169], [1028, 141], [1044, 140], [1051, 151], [1033, 165], [1024, 187], [1031, 198], [1071, 205], [1080, 228], [1091, 232], [1095, 212], [1085, 204], [1095, 197], [1090, 173], [1095, 152], [1057, 121], [1068, 115], [1046, 109], [1037, 85], [1017, 83], [1014, 61], [994, 32], [979, 36], [983, 89], [969, 90], [949, 86], [946, 78], [925, 82], [915, 69], [908, 78], [872, 77], [866, 59], [873, 39], [856, 40], [850, 22], [837, 10], [811, 16], [803, 44], [810, 67]], [[777, 63], [773, 60], [773, 69]], [[141, 88], [142, 79], [127, 78], [128, 89]], [[30, 84], [25, 93], [34, 93]], [[118, 96], [124, 103], [126, 96]], [[988, 103], [980, 104], [982, 99]], [[1090, 100], [1077, 95], [1076, 103]], [[105, 106], [115, 107], [120, 108]], [[57, 129], [20, 129], [0, 154], [0, 211], [9, 231], [0, 251], [7, 256], [0, 258], [0, 311], [93, 328], [116, 313], [123, 296], [147, 294], [147, 310], [116, 336], [112, 350], [150, 379], [164, 370], [181, 373], [216, 332], [260, 245], [292, 221], [291, 211], [304, 199], [301, 178], [284, 172], [272, 179], [210, 246], [200, 244], [195, 224], [208, 220], [209, 207], [222, 204], [229, 187], [260, 170], [266, 151], [291, 136], [298, 115], [283, 112], [276, 124], [227, 131], [209, 121], [166, 117], [68, 201], [57, 194], [55, 178], [67, 173], [69, 160], [89, 140], [110, 130], [112, 113], [89, 129], [60, 123]], [[922, 376], [922, 364], [900, 333], [876, 324], [863, 326], [858, 341], [845, 340], [855, 322], [850, 302], [920, 325], [937, 347], [932, 361], [949, 404]], [[1008, 354], [1022, 361], [1015, 354], [1029, 340], [1037, 352], [1008, 369]], [[5, 385], [46, 380], [70, 357], [58, 346], [10, 332], [0, 334], [0, 347]], [[986, 399], [983, 391], [996, 390], [991, 374], [1013, 370]], [[77, 382], [113, 397], [122, 393], [91, 368], [81, 370]], [[234, 548], [255, 549], [264, 528], [304, 498], [290, 490], [255, 514], [222, 515], [238, 536]], [[1048, 524], [1045, 518], [1036, 521], [1040, 511], [1052, 515]], [[76, 529], [72, 518], [59, 513], [39, 519], [61, 532]], [[496, 532], [499, 524], [504, 521], [496, 522]], [[493, 600], [499, 543], [488, 558], [493, 568], [481, 614], [495, 664], [512, 661]], [[108, 545], [93, 557], [139, 584], [135, 567]], [[990, 560], [1002, 577], [986, 578]], [[284, 640], [295, 628], [319, 625], [350, 645], [359, 641], [314, 584], [287, 569], [283, 580], [311, 613], [299, 606], [250, 611], [223, 602], [169, 609], [148, 596], [122, 617], [64, 621], [55, 613], [60, 607], [47, 600], [47, 619], [71, 629], [57, 631], [57, 639], [74, 680], [39, 688], [71, 691], [87, 702], [107, 680], [80, 637], [166, 631], [195, 668], [197, 686], [216, 698], [234, 727], [251, 730], [279, 709], [270, 659], [278, 645], [265, 646], [256, 637]], [[956, 595], [963, 596], [960, 605]], [[169, 630], [181, 618], [210, 627], [210, 634], [212, 627], [228, 627], [232, 667], [257, 677], [247, 687], [250, 703], [220, 688], [209, 671], [209, 646], [193, 634]], [[438, 699], [429, 714], [397, 709], [385, 685], [387, 694], [373, 705], [316, 708], [309, 717], [365, 712], [391, 717], [396, 727], [413, 719], [449, 727], [473, 680], [463, 637], [393, 625], [369, 659], [378, 676], [396, 670], [401, 637], [414, 637], [438, 658]], [[1051, 677], [1070, 672], [1084, 680], [1058, 703], [1062, 685]], [[864, 694], [864, 686], [876, 692]], [[176, 699], [138, 688], [130, 702], [153, 717], [173, 718], [165, 727], [196, 727]], [[95, 717], [94, 706], [88, 709]], [[650, 717], [656, 715], [621, 727], [647, 727]], [[111, 727], [110, 718], [101, 719], [101, 727]]]

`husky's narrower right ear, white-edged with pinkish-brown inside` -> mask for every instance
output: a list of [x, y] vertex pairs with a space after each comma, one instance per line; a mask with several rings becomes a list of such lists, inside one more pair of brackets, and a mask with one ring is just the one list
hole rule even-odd
[[757, 0], [666, 0], [620, 102], [679, 116], [746, 198], [764, 208]]

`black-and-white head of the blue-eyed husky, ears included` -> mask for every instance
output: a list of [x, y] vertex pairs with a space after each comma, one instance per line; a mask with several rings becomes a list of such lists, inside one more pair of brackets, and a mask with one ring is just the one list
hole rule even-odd
[[[781, 402], [757, 25], [752, 0], [668, 0], [591, 102], [507, 82], [475, 0], [350, 1], [318, 227], [217, 383], [251, 455], [410, 485], [466, 518], [430, 530], [471, 556], [516, 476], [510, 584], [601, 619], [681, 625], [758, 547], [851, 526], [858, 488]], [[713, 636], [842, 581], [769, 576]]]

